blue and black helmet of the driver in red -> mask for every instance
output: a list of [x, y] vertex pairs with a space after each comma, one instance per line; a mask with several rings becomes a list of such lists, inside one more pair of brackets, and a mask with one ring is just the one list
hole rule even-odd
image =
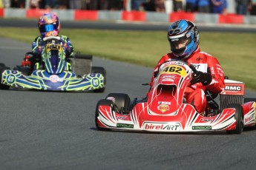
[[199, 33], [195, 24], [191, 21], [182, 19], [174, 22], [168, 28], [168, 41], [171, 52], [177, 59], [188, 58], [199, 44]]

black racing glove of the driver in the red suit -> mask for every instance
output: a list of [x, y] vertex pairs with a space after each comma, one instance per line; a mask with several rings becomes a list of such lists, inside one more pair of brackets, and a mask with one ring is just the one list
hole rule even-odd
[[208, 72], [197, 72], [193, 73], [193, 78], [190, 81], [191, 84], [201, 83], [203, 86], [207, 86], [211, 83], [212, 76]]

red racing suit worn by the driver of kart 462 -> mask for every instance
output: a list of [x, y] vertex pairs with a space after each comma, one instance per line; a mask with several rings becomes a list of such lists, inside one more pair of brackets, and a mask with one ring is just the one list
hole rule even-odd
[[[158, 61], [151, 78], [151, 86], [154, 84], [154, 78], [156, 77], [161, 64], [165, 63], [166, 61], [171, 61], [171, 59], [177, 58], [173, 53], [170, 52], [164, 55], [160, 61]], [[217, 58], [214, 58], [206, 52], [201, 52], [199, 47], [184, 61], [188, 61], [188, 63], [193, 64], [198, 71], [209, 72], [212, 76], [212, 81], [207, 86], [203, 86], [203, 84], [197, 83], [191, 86], [187, 86], [185, 89], [184, 98], [186, 99], [186, 103], [193, 104], [195, 109], [197, 109], [197, 112], [203, 113], [207, 106], [206, 95], [204, 91], [209, 89], [209, 91], [218, 94], [225, 87], [223, 69], [220, 67]]]

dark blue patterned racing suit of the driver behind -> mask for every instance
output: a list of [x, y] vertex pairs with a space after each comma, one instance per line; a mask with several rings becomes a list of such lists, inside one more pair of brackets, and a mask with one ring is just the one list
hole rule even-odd
[[[63, 46], [65, 47], [66, 56], [73, 55], [73, 46], [70, 42], [70, 39], [65, 35], [59, 35], [62, 41], [65, 42]], [[26, 55], [24, 60], [22, 61], [22, 67], [31, 67], [33, 70], [34, 67], [39, 69], [40, 65], [42, 65], [42, 46], [44, 45], [44, 41], [42, 41], [43, 37], [38, 36], [32, 43], [32, 53], [33, 56]], [[68, 63], [70, 62], [67, 58]]]

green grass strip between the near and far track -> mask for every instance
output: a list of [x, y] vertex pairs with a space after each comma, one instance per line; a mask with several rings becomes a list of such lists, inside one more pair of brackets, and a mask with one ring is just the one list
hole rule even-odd
[[[36, 28], [0, 27], [0, 37], [29, 44], [39, 35]], [[169, 45], [165, 31], [119, 31], [64, 29], [76, 51], [154, 67]], [[255, 33], [200, 33], [200, 48], [214, 55], [230, 79], [243, 81], [246, 88], [256, 89]]]

